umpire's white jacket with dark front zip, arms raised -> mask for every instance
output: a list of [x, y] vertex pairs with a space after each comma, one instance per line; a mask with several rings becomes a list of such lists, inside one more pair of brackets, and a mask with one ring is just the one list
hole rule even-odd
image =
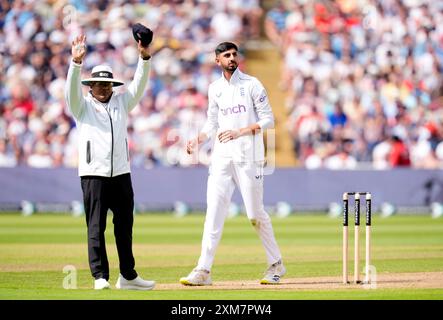
[[79, 132], [79, 176], [114, 177], [129, 173], [127, 118], [145, 92], [150, 59], [139, 57], [134, 79], [124, 93], [113, 93], [101, 103], [81, 89], [81, 65], [69, 65], [65, 97]]

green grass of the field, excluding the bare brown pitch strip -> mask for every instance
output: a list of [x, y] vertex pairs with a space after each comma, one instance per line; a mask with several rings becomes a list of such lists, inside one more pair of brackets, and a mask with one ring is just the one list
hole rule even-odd
[[[177, 283], [195, 266], [204, 216], [139, 214], [134, 225], [138, 273], [159, 284]], [[273, 218], [288, 277], [339, 276], [340, 219], [324, 215]], [[362, 245], [364, 243], [361, 234]], [[106, 231], [111, 283], [118, 276], [112, 214]], [[350, 232], [350, 241], [352, 241]], [[350, 242], [352, 243], [352, 242]], [[443, 271], [443, 219], [429, 216], [374, 216], [372, 264], [377, 273]], [[352, 246], [350, 247], [350, 253]], [[364, 250], [362, 250], [362, 255]], [[352, 257], [352, 254], [351, 254]], [[77, 290], [63, 289], [72, 265]], [[227, 219], [213, 267], [213, 281], [258, 280], [266, 268], [263, 248], [245, 216]], [[341, 290], [91, 290], [84, 218], [69, 215], [0, 214], [0, 299], [443, 299], [440, 289]]]

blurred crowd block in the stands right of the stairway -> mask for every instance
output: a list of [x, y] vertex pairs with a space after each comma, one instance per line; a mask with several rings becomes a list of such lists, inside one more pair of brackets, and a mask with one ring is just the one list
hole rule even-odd
[[443, 167], [442, 1], [279, 1], [265, 28], [301, 165]]

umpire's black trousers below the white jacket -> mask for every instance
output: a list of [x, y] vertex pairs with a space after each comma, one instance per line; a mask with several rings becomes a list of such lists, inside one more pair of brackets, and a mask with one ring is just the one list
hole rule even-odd
[[129, 173], [116, 177], [81, 177], [83, 202], [88, 227], [88, 257], [95, 279], [109, 280], [109, 262], [106, 254], [105, 230], [108, 209], [113, 213], [115, 242], [120, 262], [120, 273], [127, 279], [137, 277], [132, 253], [132, 226], [134, 224], [134, 191]]

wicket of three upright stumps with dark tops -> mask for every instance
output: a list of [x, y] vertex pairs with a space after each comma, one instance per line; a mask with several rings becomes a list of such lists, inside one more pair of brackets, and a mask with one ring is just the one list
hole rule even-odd
[[371, 205], [372, 197], [370, 192], [345, 192], [343, 193], [343, 283], [348, 281], [348, 214], [349, 214], [349, 196], [354, 196], [354, 283], [360, 283], [359, 280], [359, 227], [360, 227], [360, 196], [366, 196], [366, 267], [365, 283], [369, 283], [369, 266], [371, 259]]

